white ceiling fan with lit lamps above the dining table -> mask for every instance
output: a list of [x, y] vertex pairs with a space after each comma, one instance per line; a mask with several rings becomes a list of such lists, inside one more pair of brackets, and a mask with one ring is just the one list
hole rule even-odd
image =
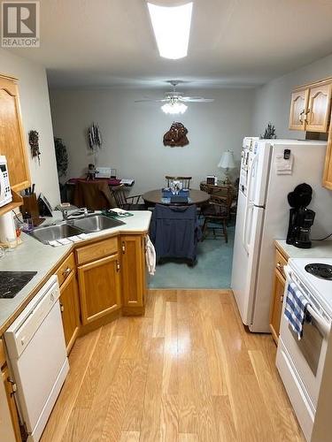
[[183, 95], [183, 92], [176, 91], [176, 86], [180, 84], [181, 80], [167, 80], [167, 83], [173, 86], [173, 91], [166, 92], [164, 98], [143, 98], [143, 100], [135, 100], [135, 103], [143, 102], [156, 102], [165, 103], [161, 106], [161, 109], [165, 113], [184, 113], [188, 106], [185, 103], [211, 103], [214, 101], [213, 98], [204, 98], [203, 96], [187, 96]]

